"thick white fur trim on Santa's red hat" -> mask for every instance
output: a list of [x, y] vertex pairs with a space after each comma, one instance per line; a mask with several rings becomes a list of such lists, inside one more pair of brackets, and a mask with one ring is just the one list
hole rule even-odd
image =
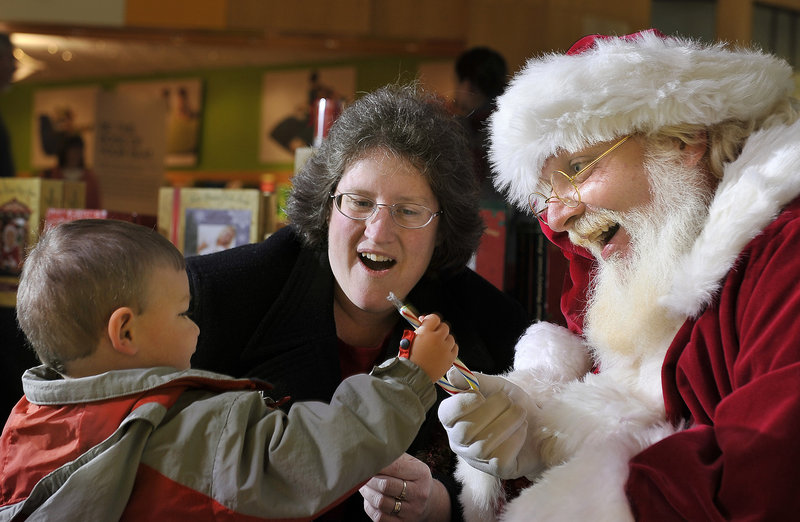
[[765, 115], [794, 90], [792, 68], [757, 50], [641, 33], [528, 61], [489, 122], [494, 184], [527, 209], [545, 160], [668, 125]]

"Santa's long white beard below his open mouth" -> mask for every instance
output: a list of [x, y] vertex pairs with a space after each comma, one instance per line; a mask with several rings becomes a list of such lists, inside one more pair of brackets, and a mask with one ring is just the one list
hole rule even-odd
[[[666, 157], [665, 157], [666, 156]], [[645, 208], [619, 213], [602, 210], [590, 220], [618, 222], [631, 238], [630, 254], [603, 260], [590, 291], [584, 333], [601, 367], [624, 360], [636, 364], [653, 350], [666, 349], [685, 316], [661, 306], [678, 260], [692, 246], [708, 215], [712, 191], [702, 171], [685, 167], [668, 153], [650, 153], [645, 172], [653, 200]]]

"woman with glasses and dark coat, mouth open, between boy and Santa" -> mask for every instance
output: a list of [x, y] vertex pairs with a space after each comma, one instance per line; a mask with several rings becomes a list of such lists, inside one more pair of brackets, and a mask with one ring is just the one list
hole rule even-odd
[[[276, 398], [327, 401], [343, 378], [397, 352], [408, 324], [389, 292], [440, 314], [471, 369], [510, 366], [527, 318], [465, 268], [483, 231], [477, 182], [441, 103], [410, 86], [365, 95], [292, 181], [292, 225], [187, 259], [195, 367], [265, 379]], [[433, 408], [408, 454], [361, 489], [363, 500], [354, 495], [323, 518], [460, 519], [453, 464]]]

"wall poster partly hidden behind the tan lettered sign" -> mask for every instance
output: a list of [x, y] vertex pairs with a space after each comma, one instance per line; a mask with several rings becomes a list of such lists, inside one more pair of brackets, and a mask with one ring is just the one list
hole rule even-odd
[[121, 83], [117, 85], [117, 92], [164, 106], [165, 165], [191, 167], [197, 164], [203, 107], [200, 79]]

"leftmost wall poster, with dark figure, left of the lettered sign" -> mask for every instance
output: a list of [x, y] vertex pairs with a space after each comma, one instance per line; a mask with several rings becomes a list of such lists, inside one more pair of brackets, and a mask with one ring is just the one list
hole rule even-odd
[[31, 166], [46, 170], [58, 164], [65, 145], [83, 143], [84, 163], [92, 166], [98, 86], [39, 89], [33, 93]]

